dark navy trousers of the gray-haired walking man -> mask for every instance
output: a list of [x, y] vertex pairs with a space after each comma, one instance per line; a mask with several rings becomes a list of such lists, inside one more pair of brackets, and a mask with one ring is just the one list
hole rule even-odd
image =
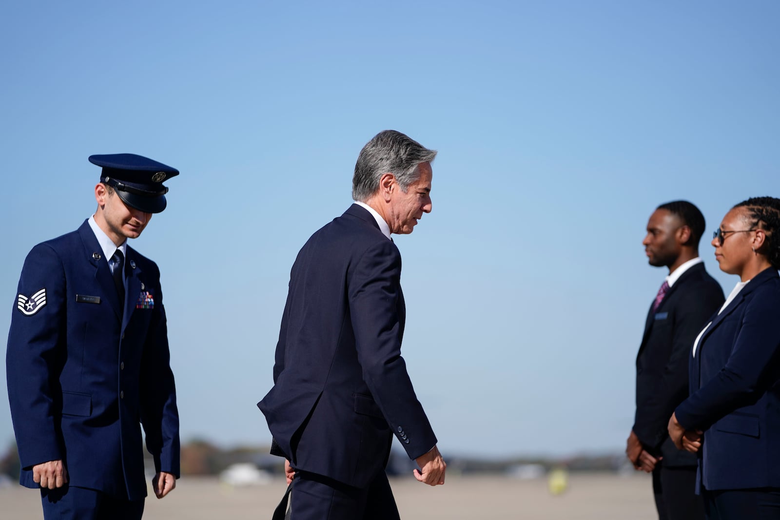
[[382, 471], [363, 489], [314, 473], [296, 472], [290, 520], [399, 520], [390, 483]]

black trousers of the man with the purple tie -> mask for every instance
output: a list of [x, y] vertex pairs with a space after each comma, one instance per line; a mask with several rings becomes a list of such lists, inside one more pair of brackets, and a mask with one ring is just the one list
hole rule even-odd
[[653, 494], [659, 520], [704, 520], [704, 500], [696, 494], [696, 468], [656, 466]]

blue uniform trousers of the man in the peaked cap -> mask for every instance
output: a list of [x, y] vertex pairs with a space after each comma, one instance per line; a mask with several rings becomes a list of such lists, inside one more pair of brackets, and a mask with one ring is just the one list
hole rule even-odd
[[44, 520], [140, 520], [144, 501], [116, 498], [86, 487], [41, 490]]

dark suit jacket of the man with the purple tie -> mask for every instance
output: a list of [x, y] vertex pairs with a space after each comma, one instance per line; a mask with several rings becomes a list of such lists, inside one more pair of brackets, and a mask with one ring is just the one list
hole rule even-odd
[[679, 451], [667, 425], [688, 397], [688, 357], [693, 340], [725, 299], [718, 282], [696, 264], [668, 289], [658, 310], [651, 304], [636, 356], [636, 415], [633, 431], [663, 465], [696, 466], [696, 455]]

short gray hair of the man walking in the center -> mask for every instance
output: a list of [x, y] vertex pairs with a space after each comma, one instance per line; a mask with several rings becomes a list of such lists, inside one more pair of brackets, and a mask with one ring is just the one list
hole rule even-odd
[[379, 179], [385, 173], [392, 173], [406, 193], [409, 185], [420, 178], [417, 167], [433, 161], [436, 153], [400, 132], [381, 131], [360, 150], [352, 178], [352, 198], [360, 202], [368, 200], [377, 193]]

